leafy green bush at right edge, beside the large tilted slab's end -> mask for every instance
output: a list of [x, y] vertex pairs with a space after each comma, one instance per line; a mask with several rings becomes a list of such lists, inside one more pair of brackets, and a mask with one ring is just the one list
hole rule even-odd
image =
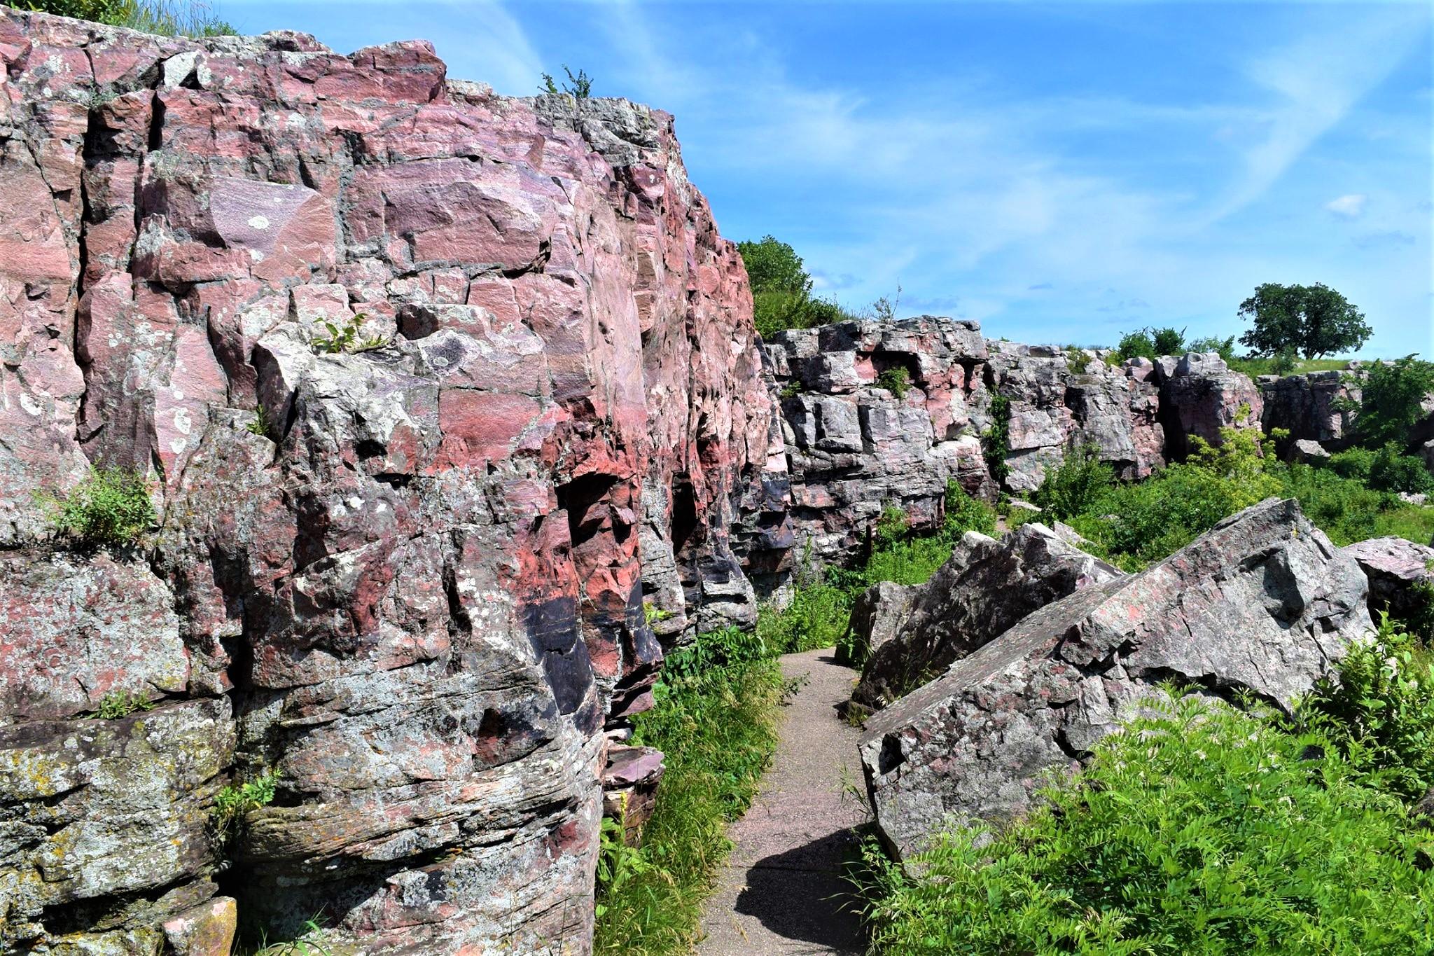
[[1296, 717], [1339, 747], [1382, 790], [1415, 801], [1434, 785], [1434, 664], [1388, 613], [1355, 642]]

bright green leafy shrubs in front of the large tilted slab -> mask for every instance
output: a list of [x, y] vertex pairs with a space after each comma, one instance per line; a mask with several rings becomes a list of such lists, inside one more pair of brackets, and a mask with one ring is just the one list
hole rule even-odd
[[1324, 737], [1156, 699], [1008, 828], [903, 870], [868, 849], [878, 953], [1427, 953], [1434, 874], [1401, 803]]

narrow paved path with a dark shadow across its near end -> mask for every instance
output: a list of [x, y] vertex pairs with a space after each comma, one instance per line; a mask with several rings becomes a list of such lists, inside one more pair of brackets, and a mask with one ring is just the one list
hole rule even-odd
[[858, 920], [843, 907], [850, 886], [839, 874], [855, 847], [852, 827], [865, 818], [842, 795], [843, 767], [860, 780], [860, 731], [835, 709], [852, 695], [856, 674], [833, 664], [830, 649], [789, 654], [782, 669], [810, 679], [786, 708], [761, 794], [730, 830], [737, 846], [707, 900], [701, 956], [865, 950]]

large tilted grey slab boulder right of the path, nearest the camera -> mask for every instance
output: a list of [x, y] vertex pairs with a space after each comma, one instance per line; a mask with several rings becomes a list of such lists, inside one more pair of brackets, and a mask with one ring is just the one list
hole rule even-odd
[[944, 824], [1021, 813], [1162, 681], [1288, 705], [1369, 628], [1367, 595], [1352, 556], [1269, 499], [1035, 611], [868, 722], [883, 840], [909, 854]]

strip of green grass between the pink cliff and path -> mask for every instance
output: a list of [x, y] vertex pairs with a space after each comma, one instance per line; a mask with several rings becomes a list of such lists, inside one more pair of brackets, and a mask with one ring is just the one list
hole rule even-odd
[[632, 742], [661, 750], [667, 771], [641, 850], [617, 850], [611, 830], [604, 841], [597, 953], [684, 953], [697, 940], [703, 897], [731, 849], [727, 824], [756, 797], [777, 745], [777, 709], [792, 689], [774, 659], [750, 656], [759, 645], [766, 648], [730, 634], [700, 635], [691, 659], [724, 664], [664, 666], [655, 705], [632, 720]]

